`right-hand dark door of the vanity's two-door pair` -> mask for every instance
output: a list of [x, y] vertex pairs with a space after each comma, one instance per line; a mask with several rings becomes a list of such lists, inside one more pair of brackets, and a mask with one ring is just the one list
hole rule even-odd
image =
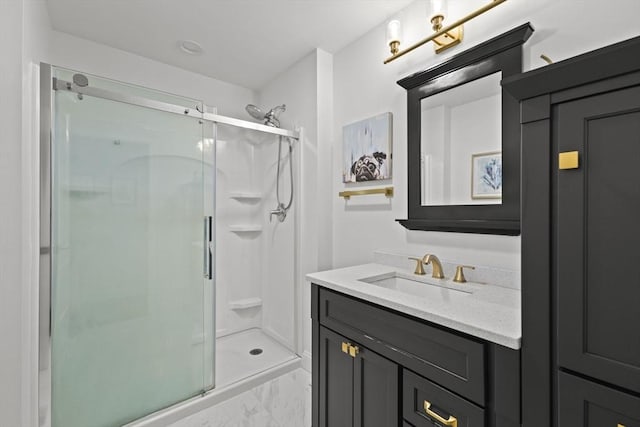
[[400, 424], [400, 368], [360, 348], [354, 359], [354, 427], [397, 427]]

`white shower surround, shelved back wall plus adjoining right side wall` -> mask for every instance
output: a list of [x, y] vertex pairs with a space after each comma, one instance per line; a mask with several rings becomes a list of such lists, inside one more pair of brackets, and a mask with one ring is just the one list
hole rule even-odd
[[[216, 131], [217, 334], [258, 327], [293, 350], [295, 198], [284, 222], [270, 215], [277, 206], [279, 138], [225, 125]], [[285, 205], [291, 188], [288, 147], [283, 140], [280, 201]]]

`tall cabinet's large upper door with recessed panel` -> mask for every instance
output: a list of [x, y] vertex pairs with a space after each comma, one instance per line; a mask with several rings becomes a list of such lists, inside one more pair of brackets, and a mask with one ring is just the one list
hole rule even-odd
[[640, 87], [555, 114], [559, 365], [640, 393]]

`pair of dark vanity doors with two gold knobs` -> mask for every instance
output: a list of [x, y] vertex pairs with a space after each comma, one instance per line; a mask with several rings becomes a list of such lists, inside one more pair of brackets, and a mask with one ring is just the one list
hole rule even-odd
[[398, 425], [396, 363], [324, 327], [319, 351], [320, 426]]

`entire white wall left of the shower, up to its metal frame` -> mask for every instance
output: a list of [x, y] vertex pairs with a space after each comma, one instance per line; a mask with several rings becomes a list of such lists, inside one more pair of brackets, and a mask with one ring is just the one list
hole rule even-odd
[[38, 120], [34, 58], [46, 49], [45, 3], [0, 1], [0, 424], [27, 425], [37, 417], [32, 333], [37, 303]]

